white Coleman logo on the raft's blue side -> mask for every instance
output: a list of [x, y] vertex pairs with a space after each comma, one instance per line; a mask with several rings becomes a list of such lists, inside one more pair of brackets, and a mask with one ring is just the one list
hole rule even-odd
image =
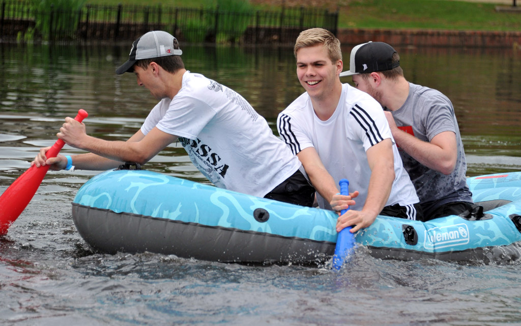
[[443, 227], [433, 227], [425, 231], [424, 246], [427, 249], [440, 249], [461, 246], [469, 243], [469, 233], [466, 224], [454, 224]]

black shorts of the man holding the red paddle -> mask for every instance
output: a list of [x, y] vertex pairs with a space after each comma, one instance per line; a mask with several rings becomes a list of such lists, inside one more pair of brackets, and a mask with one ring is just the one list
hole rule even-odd
[[268, 192], [264, 198], [312, 207], [315, 200], [315, 188], [308, 182], [302, 172], [297, 170], [280, 185]]

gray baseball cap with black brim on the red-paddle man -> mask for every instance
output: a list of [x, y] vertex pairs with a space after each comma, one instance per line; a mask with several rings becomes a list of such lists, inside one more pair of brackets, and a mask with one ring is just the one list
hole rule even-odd
[[116, 69], [116, 74], [133, 73], [134, 64], [141, 59], [157, 58], [168, 55], [181, 55], [180, 49], [174, 49], [175, 37], [165, 31], [150, 31], [141, 35], [132, 43], [129, 59]]

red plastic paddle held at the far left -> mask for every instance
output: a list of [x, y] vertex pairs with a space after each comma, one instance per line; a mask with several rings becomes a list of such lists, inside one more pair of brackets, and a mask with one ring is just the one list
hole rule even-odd
[[[78, 115], [74, 119], [78, 122], [82, 122], [88, 115], [89, 114], [82, 109], [78, 111]], [[55, 158], [64, 145], [65, 142], [58, 139], [45, 153], [47, 159]], [[36, 167], [35, 165], [31, 166], [0, 196], [0, 236], [7, 233], [9, 226], [15, 222], [27, 204], [29, 204], [48, 170], [49, 165], [40, 167]]]

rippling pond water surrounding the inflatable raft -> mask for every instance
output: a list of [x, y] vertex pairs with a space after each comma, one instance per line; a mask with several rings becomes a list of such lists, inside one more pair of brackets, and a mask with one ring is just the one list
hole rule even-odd
[[[241, 93], [268, 120], [302, 93], [289, 47], [182, 46], [187, 68]], [[349, 66], [351, 47], [345, 47]], [[406, 78], [452, 100], [468, 176], [521, 171], [521, 53], [397, 49]], [[155, 104], [132, 74], [128, 46], [0, 44], [0, 193], [56, 140], [66, 116], [89, 112], [88, 133], [125, 140]], [[350, 82], [350, 78], [343, 80]], [[78, 153], [66, 146], [62, 153]], [[172, 144], [145, 168], [207, 180]], [[520, 262], [396, 261], [359, 248], [328, 266], [224, 264], [141, 253], [94, 253], [71, 201], [97, 172], [49, 172], [0, 238], [0, 323], [498, 325], [521, 321]], [[0, 208], [1, 209], [1, 208]]]

